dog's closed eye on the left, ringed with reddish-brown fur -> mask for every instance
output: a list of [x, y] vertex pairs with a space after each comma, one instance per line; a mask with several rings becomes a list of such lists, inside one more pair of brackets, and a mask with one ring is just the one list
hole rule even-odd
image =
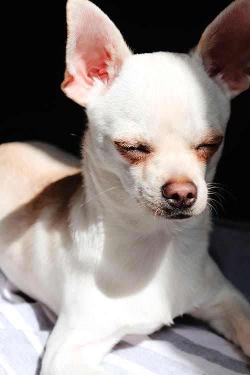
[[132, 143], [116, 140], [114, 141], [114, 145], [117, 151], [132, 164], [144, 161], [152, 151], [148, 144], [139, 141]]

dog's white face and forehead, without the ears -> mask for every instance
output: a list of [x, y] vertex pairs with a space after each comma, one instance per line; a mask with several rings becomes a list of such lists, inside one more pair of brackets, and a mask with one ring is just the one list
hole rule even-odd
[[126, 204], [170, 219], [201, 213], [229, 108], [197, 63], [181, 54], [133, 55], [98, 100], [87, 108], [96, 162], [121, 181]]

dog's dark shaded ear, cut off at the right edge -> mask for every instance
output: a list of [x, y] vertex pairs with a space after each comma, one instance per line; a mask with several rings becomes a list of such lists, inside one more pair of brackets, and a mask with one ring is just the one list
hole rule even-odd
[[194, 55], [234, 97], [250, 85], [250, 0], [235, 0], [204, 30]]

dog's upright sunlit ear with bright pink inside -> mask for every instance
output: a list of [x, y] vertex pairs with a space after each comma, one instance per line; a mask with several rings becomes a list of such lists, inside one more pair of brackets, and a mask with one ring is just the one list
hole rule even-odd
[[85, 105], [92, 88], [110, 85], [126, 56], [131, 54], [121, 33], [96, 5], [67, 1], [66, 70], [61, 89]]

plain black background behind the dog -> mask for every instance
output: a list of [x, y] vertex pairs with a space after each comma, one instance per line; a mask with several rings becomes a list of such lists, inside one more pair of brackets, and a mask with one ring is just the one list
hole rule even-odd
[[[65, 0], [10, 2], [2, 11], [0, 142], [44, 140], [79, 154], [84, 110], [60, 90], [66, 40]], [[230, 1], [105, 1], [98, 5], [134, 53], [188, 52]], [[53, 8], [51, 7], [53, 6]], [[232, 100], [215, 181], [222, 184], [218, 216], [249, 220], [250, 90]], [[37, 166], [38, 167], [38, 166]], [[232, 195], [233, 196], [232, 196]]]

